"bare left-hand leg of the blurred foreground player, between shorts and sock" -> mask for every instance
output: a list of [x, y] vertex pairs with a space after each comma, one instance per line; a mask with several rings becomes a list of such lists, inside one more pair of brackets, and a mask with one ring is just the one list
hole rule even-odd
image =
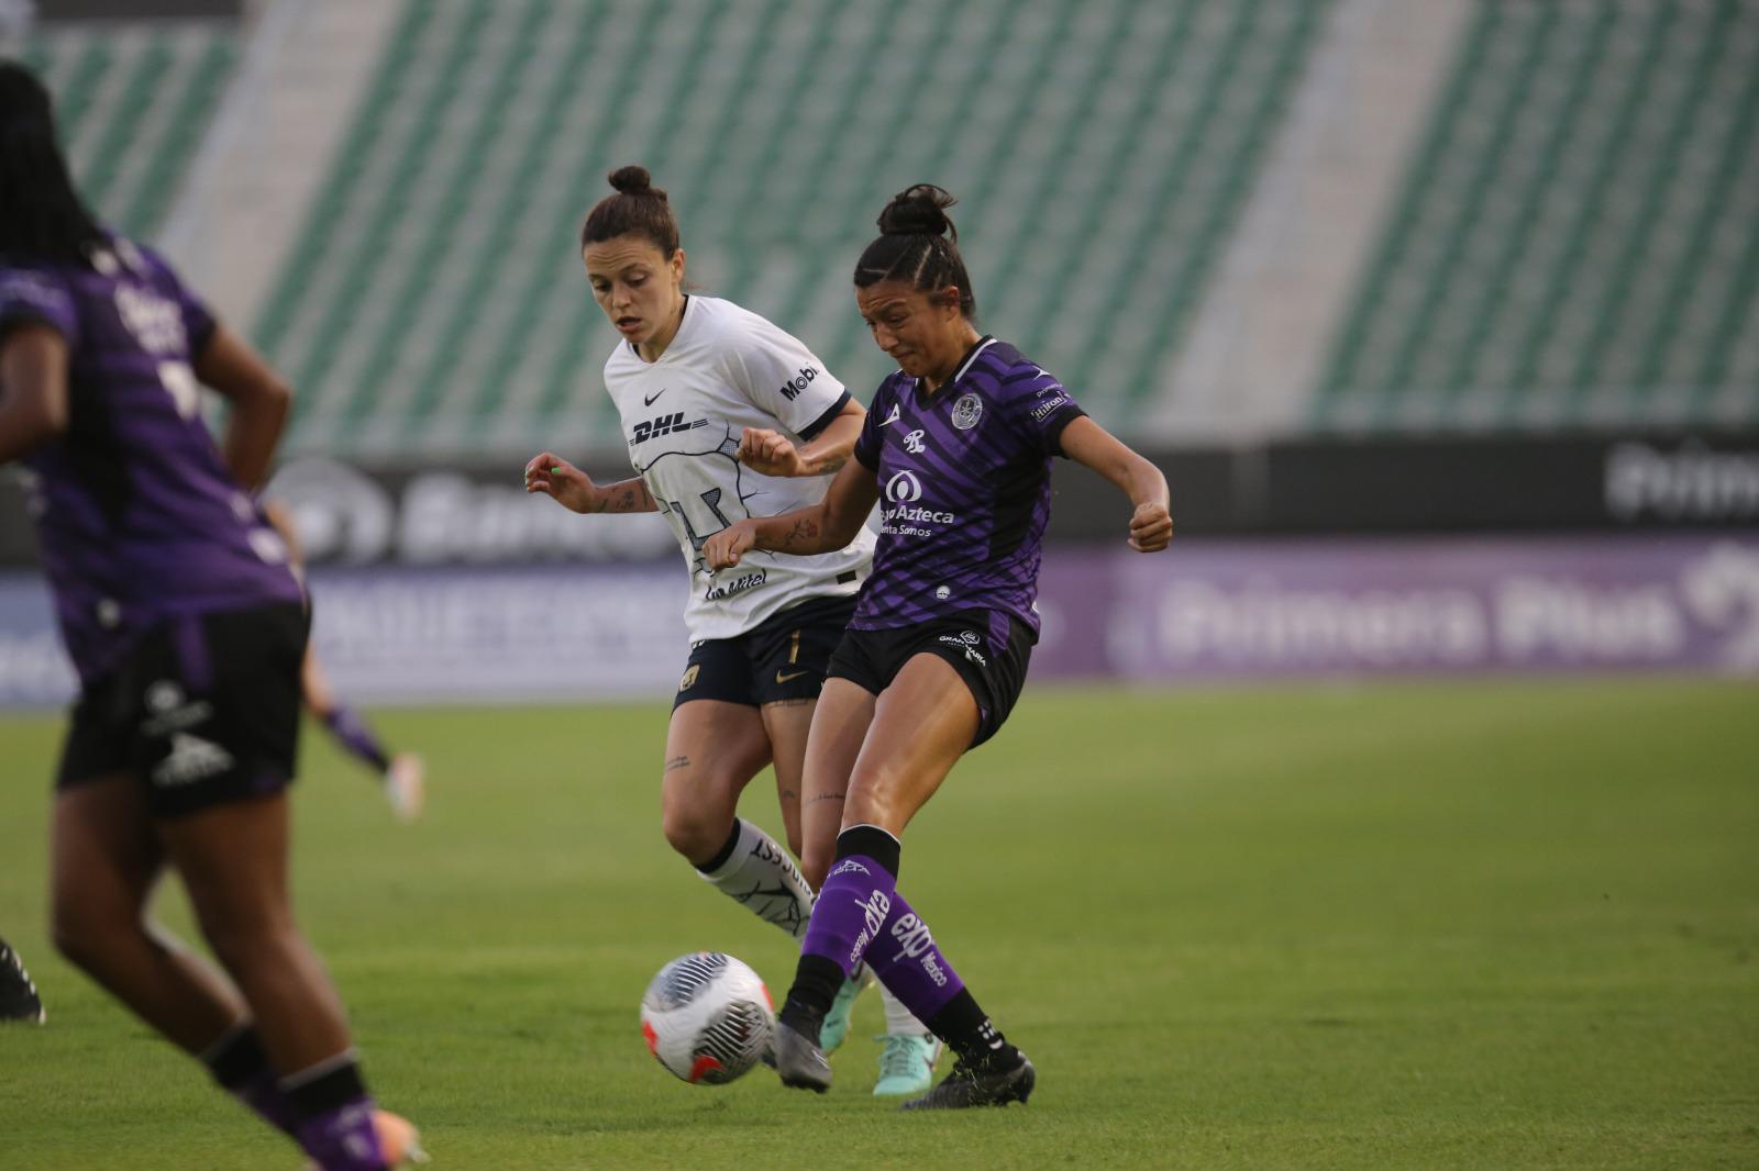
[[56, 949], [186, 1053], [202, 1053], [246, 1018], [213, 967], [146, 920], [164, 869], [134, 777], [62, 788], [51, 830]]

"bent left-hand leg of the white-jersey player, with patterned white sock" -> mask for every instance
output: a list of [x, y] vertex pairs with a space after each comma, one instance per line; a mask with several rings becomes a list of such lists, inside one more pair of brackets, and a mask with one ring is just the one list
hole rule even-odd
[[770, 760], [758, 709], [691, 700], [672, 709], [661, 781], [667, 840], [723, 895], [795, 939], [813, 891], [776, 839], [735, 816], [739, 795]]

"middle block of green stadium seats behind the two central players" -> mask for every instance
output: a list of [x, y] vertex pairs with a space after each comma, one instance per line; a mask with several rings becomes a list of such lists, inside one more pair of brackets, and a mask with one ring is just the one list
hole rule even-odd
[[1128, 431], [1328, 7], [406, 2], [257, 316], [294, 445], [609, 447], [575, 241], [628, 162], [672, 192], [693, 283], [862, 396], [887, 364], [850, 267], [887, 197], [941, 183], [982, 324]]

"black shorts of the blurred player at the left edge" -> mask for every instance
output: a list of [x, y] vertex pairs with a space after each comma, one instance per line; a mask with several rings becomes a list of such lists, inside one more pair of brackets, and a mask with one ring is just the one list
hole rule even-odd
[[55, 786], [132, 774], [158, 818], [287, 788], [308, 626], [296, 603], [155, 626], [74, 702]]

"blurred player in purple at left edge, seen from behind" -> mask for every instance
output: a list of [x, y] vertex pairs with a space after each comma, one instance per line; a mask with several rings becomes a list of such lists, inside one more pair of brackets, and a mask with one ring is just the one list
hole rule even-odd
[[[232, 404], [218, 448], [201, 385]], [[47, 91], [0, 62], [0, 464], [28, 471], [79, 673], [55, 942], [324, 1171], [359, 1171], [417, 1148], [375, 1109], [287, 897], [304, 598], [246, 492], [287, 408], [164, 260], [97, 225]], [[223, 974], [146, 918], [167, 867]]]

